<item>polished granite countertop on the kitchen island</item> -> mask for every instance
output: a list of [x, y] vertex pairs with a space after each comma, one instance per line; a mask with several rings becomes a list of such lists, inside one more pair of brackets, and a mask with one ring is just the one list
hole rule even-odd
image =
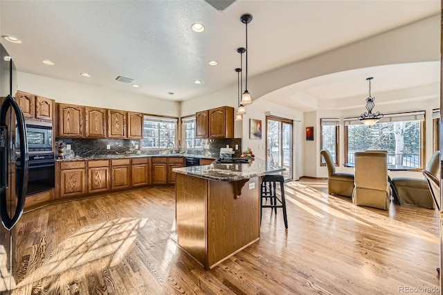
[[249, 163], [212, 163], [206, 166], [192, 166], [172, 169], [172, 171], [184, 175], [191, 175], [216, 181], [238, 181], [284, 170], [286, 169], [257, 158]]

